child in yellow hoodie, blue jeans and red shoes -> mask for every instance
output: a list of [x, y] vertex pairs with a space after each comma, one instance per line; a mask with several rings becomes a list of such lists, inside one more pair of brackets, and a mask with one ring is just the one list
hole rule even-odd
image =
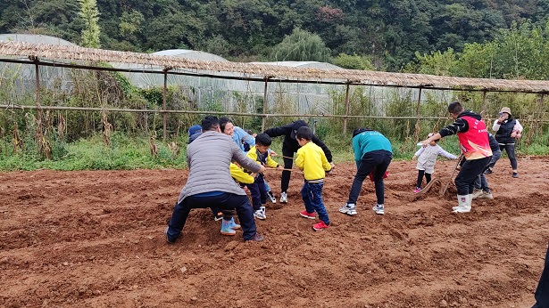
[[301, 126], [295, 132], [295, 140], [299, 143], [299, 150], [295, 158], [295, 166], [304, 171], [305, 183], [301, 189], [305, 210], [299, 212], [305, 218], [314, 219], [314, 212], [319, 215], [320, 222], [312, 225], [312, 230], [328, 229], [329, 217], [322, 201], [322, 187], [326, 172], [331, 172], [331, 165], [324, 151], [311, 142], [312, 130], [308, 126]]

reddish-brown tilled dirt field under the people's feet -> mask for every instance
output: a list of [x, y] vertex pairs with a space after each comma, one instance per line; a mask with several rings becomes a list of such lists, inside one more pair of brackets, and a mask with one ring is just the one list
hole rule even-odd
[[[301, 174], [287, 206], [268, 205], [262, 243], [220, 235], [209, 210], [182, 237], [163, 230], [187, 170], [0, 174], [2, 307], [530, 307], [549, 234], [549, 158], [502, 158], [495, 199], [453, 215], [455, 189], [414, 196], [414, 162], [394, 162], [386, 215], [365, 182], [358, 215], [338, 213], [355, 167], [324, 186], [332, 225], [301, 218]], [[439, 161], [448, 178], [454, 161]], [[268, 181], [279, 192], [278, 173]], [[418, 197], [418, 199], [414, 199]]]

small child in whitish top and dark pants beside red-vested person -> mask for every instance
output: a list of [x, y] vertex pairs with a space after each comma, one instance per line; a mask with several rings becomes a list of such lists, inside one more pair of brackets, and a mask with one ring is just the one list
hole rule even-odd
[[[428, 134], [427, 138], [432, 137], [434, 134]], [[416, 183], [416, 189], [413, 190], [414, 193], [421, 191], [421, 182], [423, 182], [423, 174], [425, 174], [425, 179], [428, 182], [431, 182], [431, 174], [435, 172], [435, 163], [437, 162], [438, 155], [442, 155], [445, 158], [457, 159], [457, 156], [452, 153], [446, 152], [438, 144], [438, 141], [430, 142], [428, 147], [421, 147], [414, 155], [412, 159], [418, 158], [418, 182]]]

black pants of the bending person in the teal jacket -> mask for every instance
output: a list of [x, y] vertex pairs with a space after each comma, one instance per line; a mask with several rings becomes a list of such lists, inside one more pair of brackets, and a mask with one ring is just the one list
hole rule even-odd
[[354, 175], [353, 185], [349, 192], [348, 204], [356, 204], [359, 194], [362, 189], [362, 182], [368, 174], [376, 169], [374, 174], [374, 184], [376, 186], [376, 197], [378, 204], [383, 204], [385, 200], [385, 185], [383, 183], [383, 174], [387, 171], [387, 167], [393, 159], [393, 154], [388, 150], [372, 150], [362, 156], [361, 164]]

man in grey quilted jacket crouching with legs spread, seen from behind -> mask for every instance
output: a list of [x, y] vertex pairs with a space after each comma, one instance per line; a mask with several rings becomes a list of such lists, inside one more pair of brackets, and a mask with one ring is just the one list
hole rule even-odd
[[220, 132], [218, 118], [205, 117], [202, 120], [202, 132], [187, 147], [190, 172], [166, 228], [166, 240], [173, 243], [179, 238], [192, 208], [211, 207], [214, 204], [222, 210], [237, 210], [244, 240], [262, 241], [262, 235], [255, 229], [250, 201], [244, 190], [233, 181], [229, 166], [234, 160], [254, 173], [265, 171], [265, 167], [246, 158], [232, 138]]

